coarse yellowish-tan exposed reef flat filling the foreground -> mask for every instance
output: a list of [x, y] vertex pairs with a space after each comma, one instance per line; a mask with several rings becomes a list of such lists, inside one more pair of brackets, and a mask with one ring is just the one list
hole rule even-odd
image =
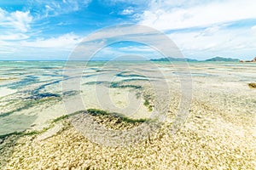
[[[84, 138], [70, 123], [73, 116], [84, 114], [83, 112], [62, 116], [51, 127], [61, 123], [61, 130], [46, 139], [40, 138], [50, 128], [43, 133], [22, 135], [15, 145], [11, 145], [14, 152], [5, 166], [7, 169], [253, 169], [255, 138], [242, 133], [245, 130], [241, 130], [239, 126], [227, 124], [221, 118], [221, 113], [215, 112], [212, 116], [212, 107], [201, 105], [199, 112], [196, 110], [198, 106], [193, 105], [194, 111], [189, 122], [177, 133], [171, 134], [172, 123], [166, 123], [159, 133], [131, 147], [107, 147]], [[131, 128], [142, 123], [102, 112], [103, 114], [95, 114], [92, 111], [90, 116], [108, 128]], [[12, 138], [9, 137], [9, 140]], [[4, 143], [7, 143], [5, 140]], [[7, 150], [3, 154], [6, 152]]]

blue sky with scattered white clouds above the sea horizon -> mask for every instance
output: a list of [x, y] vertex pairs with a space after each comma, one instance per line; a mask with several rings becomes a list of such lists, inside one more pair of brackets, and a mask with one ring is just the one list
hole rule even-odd
[[[186, 58], [253, 59], [255, 7], [255, 0], [0, 0], [0, 60], [67, 60], [84, 38], [123, 24], [162, 32]], [[163, 57], [147, 44], [116, 42], [94, 58], [129, 55]]]

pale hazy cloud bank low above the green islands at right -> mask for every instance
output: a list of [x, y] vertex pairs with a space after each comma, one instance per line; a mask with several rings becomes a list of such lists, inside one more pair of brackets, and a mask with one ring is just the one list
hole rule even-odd
[[256, 48], [256, 38], [250, 28], [207, 28], [201, 31], [176, 32], [168, 36], [177, 44], [184, 55], [206, 59], [215, 55], [250, 59]]

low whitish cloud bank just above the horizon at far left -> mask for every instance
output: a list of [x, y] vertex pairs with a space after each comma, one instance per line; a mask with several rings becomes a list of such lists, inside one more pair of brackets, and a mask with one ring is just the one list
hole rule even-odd
[[[8, 37], [9, 39], [11, 38]], [[13, 37], [15, 38], [15, 37]], [[68, 33], [59, 37], [37, 40], [1, 41], [0, 59], [67, 59], [81, 37]], [[6, 56], [7, 58], [3, 58]]]

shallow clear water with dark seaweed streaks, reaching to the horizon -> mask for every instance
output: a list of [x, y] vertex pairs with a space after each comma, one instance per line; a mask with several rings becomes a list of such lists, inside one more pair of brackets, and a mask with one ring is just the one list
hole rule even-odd
[[[72, 98], [82, 93], [88, 107], [97, 107], [95, 103], [86, 100], [94, 86], [115, 88], [113, 95], [116, 103], [125, 107], [131, 90], [143, 86], [146, 82], [168, 79], [169, 82], [178, 80], [180, 74], [192, 77], [194, 95], [216, 94], [218, 99], [212, 99], [212, 105], [230, 105], [241, 112], [252, 112], [255, 108], [256, 89], [247, 87], [248, 82], [256, 82], [256, 64], [191, 62], [189, 72], [177, 71], [175, 65], [181, 63], [152, 63], [152, 62], [71, 62], [66, 67], [65, 61], [2, 61], [0, 62], [0, 135], [24, 131], [37, 126], [44, 127], [44, 123], [57, 116], [65, 115], [63, 99]], [[174, 66], [173, 66], [174, 65]], [[61, 84], [74, 79], [65, 74], [65, 69], [80, 68], [84, 71], [81, 78], [81, 91], [62, 91]], [[64, 72], [63, 72], [64, 71]], [[165, 77], [159, 77], [160, 72]], [[111, 76], [110, 76], [111, 75]], [[146, 81], [145, 81], [146, 80]], [[105, 82], [109, 83], [105, 83]], [[110, 82], [126, 83], [119, 85], [123, 91], [111, 87]], [[175, 83], [174, 83], [175, 84]], [[105, 89], [104, 88], [104, 89]], [[128, 88], [128, 89], [126, 89]], [[125, 91], [126, 90], [126, 91]], [[129, 91], [130, 90], [130, 91]], [[120, 92], [119, 92], [120, 91]], [[201, 93], [200, 93], [201, 92]], [[84, 94], [83, 94], [84, 93]], [[126, 97], [119, 97], [123, 93]], [[133, 92], [132, 92], [133, 93]], [[225, 98], [227, 95], [233, 96]], [[239, 98], [243, 94], [243, 99]], [[237, 100], [237, 98], [240, 100]], [[89, 97], [88, 97], [89, 98]], [[254, 100], [253, 100], [254, 99]], [[93, 99], [91, 99], [93, 100]], [[216, 103], [215, 103], [216, 101]], [[96, 101], [95, 101], [96, 102]], [[129, 102], [128, 102], [129, 103]], [[223, 104], [222, 104], [223, 103]], [[242, 104], [241, 104], [242, 103]], [[108, 108], [111, 110], [111, 108]], [[253, 114], [253, 113], [252, 113]]]

